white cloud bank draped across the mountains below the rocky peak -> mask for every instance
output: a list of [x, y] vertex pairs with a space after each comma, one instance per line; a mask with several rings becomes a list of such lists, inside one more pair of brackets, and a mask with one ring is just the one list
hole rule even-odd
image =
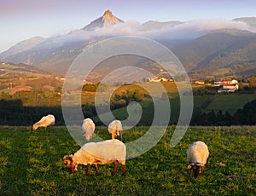
[[111, 28], [97, 28], [94, 32], [78, 32], [80, 38], [89, 37], [103, 37], [103, 36], [142, 36], [151, 38], [168, 38], [168, 39], [182, 39], [182, 38], [196, 38], [207, 32], [218, 29], [238, 29], [249, 32], [256, 32], [255, 27], [248, 26], [241, 21], [233, 20], [193, 20], [184, 22], [177, 26], [166, 26], [160, 29], [153, 29], [150, 31], [142, 31], [142, 26], [136, 20], [119, 23]]

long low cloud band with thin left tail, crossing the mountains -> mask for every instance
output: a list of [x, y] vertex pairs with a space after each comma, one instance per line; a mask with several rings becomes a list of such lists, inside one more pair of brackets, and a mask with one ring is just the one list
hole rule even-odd
[[148, 37], [152, 39], [194, 39], [201, 37], [207, 32], [218, 29], [237, 29], [256, 32], [256, 28], [248, 26], [246, 23], [234, 20], [193, 20], [184, 22], [176, 26], [164, 26], [160, 29], [143, 31], [143, 27], [136, 20], [119, 23], [112, 27], [96, 28], [92, 32], [77, 30], [69, 32], [66, 35], [50, 37], [44, 42], [44, 47], [53, 49], [61, 47], [65, 43], [90, 41], [104, 37], [119, 37], [119, 36], [138, 36]]

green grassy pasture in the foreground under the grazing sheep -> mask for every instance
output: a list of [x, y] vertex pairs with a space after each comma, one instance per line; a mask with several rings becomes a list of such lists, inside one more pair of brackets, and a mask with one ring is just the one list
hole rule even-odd
[[[125, 130], [124, 142], [142, 136], [148, 127]], [[169, 147], [174, 127], [143, 155], [126, 160], [111, 176], [113, 165], [70, 173], [62, 162], [79, 146], [65, 127], [32, 130], [0, 127], [0, 195], [255, 195], [256, 127], [189, 127], [176, 147]], [[106, 127], [96, 135], [110, 137]], [[210, 157], [203, 176], [189, 178], [186, 149], [205, 141]], [[224, 166], [225, 164], [225, 166]]]

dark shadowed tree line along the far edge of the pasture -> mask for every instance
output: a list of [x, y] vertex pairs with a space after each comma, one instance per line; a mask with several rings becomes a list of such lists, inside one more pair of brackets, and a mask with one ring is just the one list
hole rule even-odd
[[[32, 126], [40, 118], [48, 113], [55, 115], [55, 125], [65, 125], [61, 107], [24, 107], [22, 101], [0, 100], [0, 125]], [[82, 105], [84, 118], [96, 117], [96, 107], [94, 105]], [[143, 122], [143, 123], [142, 123]], [[177, 122], [172, 122], [172, 124]], [[97, 122], [96, 124], [102, 124]], [[138, 126], [150, 125], [151, 122], [140, 121]], [[256, 100], [248, 102], [242, 109], [238, 109], [234, 115], [229, 112], [211, 111], [201, 112], [195, 109], [190, 122], [191, 125], [255, 125], [256, 124]]]

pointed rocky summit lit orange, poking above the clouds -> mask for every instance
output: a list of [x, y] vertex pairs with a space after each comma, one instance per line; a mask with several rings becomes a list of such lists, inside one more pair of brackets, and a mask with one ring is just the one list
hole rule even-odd
[[102, 27], [111, 27], [117, 23], [124, 22], [123, 20], [120, 20], [119, 18], [115, 17], [112, 12], [108, 9], [105, 11], [105, 13], [102, 15], [102, 17], [93, 20], [90, 22], [89, 25], [84, 26], [84, 31], [93, 31], [96, 28], [102, 28]]

